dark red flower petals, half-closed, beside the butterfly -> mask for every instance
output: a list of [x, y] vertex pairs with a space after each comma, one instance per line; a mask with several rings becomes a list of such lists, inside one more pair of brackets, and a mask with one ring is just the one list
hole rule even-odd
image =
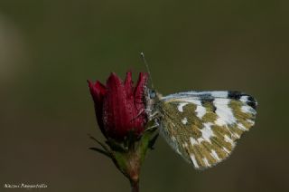
[[107, 138], [121, 140], [133, 131], [136, 136], [144, 131], [147, 116], [144, 112], [144, 88], [148, 75], [140, 72], [133, 86], [132, 73], [126, 73], [123, 83], [115, 73], [107, 79], [107, 86], [89, 82], [95, 104], [98, 126]]

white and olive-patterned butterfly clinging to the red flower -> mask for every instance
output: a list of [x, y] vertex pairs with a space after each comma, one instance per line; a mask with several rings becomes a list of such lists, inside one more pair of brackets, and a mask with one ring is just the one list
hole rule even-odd
[[187, 91], [161, 96], [147, 89], [148, 117], [173, 150], [196, 169], [228, 158], [256, 119], [256, 100], [240, 91]]

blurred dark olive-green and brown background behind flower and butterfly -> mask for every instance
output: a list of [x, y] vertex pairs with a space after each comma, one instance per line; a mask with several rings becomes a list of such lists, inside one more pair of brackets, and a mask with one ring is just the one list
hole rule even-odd
[[140, 52], [163, 94], [238, 90], [259, 103], [255, 128], [215, 168], [194, 170], [158, 139], [142, 191], [289, 191], [288, 8], [287, 0], [0, 1], [0, 191], [21, 191], [5, 183], [129, 191], [112, 162], [88, 149], [87, 133], [104, 138], [86, 80], [128, 69], [136, 79]]

